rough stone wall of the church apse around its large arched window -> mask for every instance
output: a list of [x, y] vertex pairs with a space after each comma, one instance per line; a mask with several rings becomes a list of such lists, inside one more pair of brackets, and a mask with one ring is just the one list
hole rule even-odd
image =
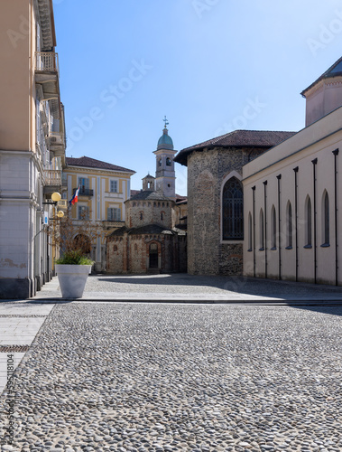
[[188, 272], [190, 275], [241, 275], [243, 240], [221, 240], [221, 190], [228, 174], [264, 149], [215, 148], [188, 157]]

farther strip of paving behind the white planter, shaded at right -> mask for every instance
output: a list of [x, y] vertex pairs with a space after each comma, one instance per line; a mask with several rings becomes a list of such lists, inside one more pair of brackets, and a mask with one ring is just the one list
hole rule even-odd
[[[60, 298], [58, 279], [42, 287], [35, 299]], [[92, 275], [84, 299], [116, 300], [340, 300], [342, 287], [263, 278], [171, 275]]]

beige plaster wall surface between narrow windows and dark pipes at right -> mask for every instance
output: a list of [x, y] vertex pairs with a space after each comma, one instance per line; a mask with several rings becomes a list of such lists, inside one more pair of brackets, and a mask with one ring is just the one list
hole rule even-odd
[[[244, 193], [245, 193], [245, 218], [251, 212], [253, 215], [252, 187], [255, 186], [255, 243], [254, 252], [244, 247], [245, 275], [256, 277], [265, 276], [265, 257], [267, 255], [267, 277], [296, 279], [296, 244], [298, 246], [298, 280], [306, 282], [315, 281], [315, 231], [314, 217], [316, 217], [316, 281], [318, 283], [335, 284], [335, 186], [334, 186], [334, 155], [332, 151], [342, 150], [342, 131], [339, 130], [342, 109], [322, 118], [318, 123], [303, 129], [294, 137], [279, 146], [273, 147], [265, 155], [262, 155], [252, 163], [244, 166]], [[335, 125], [335, 131], [332, 128]], [[287, 158], [286, 155], [287, 148]], [[297, 152], [295, 152], [297, 149]], [[266, 158], [268, 157], [268, 158]], [[314, 215], [314, 182], [312, 160], [318, 159], [316, 166], [316, 215]], [[341, 155], [337, 156], [337, 171], [340, 166]], [[263, 163], [263, 165], [261, 165]], [[271, 165], [270, 165], [271, 164]], [[295, 172], [298, 167], [298, 242], [295, 235]], [[281, 227], [278, 223], [278, 180], [281, 174], [280, 200], [281, 200]], [[337, 175], [337, 243], [341, 243], [342, 229], [342, 199], [338, 195], [342, 181]], [[260, 242], [260, 210], [264, 210], [264, 186], [266, 185], [266, 250], [259, 250]], [[323, 195], [329, 197], [329, 246], [324, 244], [324, 202]], [[310, 197], [312, 209], [312, 248], [306, 247], [307, 243], [307, 217], [306, 205]], [[291, 202], [292, 208], [292, 248], [286, 250], [288, 245], [287, 208]], [[271, 250], [271, 210], [274, 205], [276, 210], [277, 239], [276, 250]], [[248, 234], [248, 224], [245, 222], [245, 234]], [[281, 238], [281, 250], [279, 249], [279, 237]], [[304, 248], [305, 247], [305, 248]], [[281, 255], [281, 270], [279, 269], [279, 257]], [[254, 266], [255, 259], [255, 266]], [[341, 247], [338, 247], [338, 259], [342, 259]], [[338, 276], [338, 283], [342, 284], [342, 276]]]

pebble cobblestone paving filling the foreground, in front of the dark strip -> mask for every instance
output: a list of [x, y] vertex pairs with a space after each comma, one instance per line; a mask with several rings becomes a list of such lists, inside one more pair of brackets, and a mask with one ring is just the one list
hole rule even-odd
[[[54, 306], [14, 381], [15, 451], [340, 451], [342, 307]], [[0, 399], [0, 442], [8, 426]]]

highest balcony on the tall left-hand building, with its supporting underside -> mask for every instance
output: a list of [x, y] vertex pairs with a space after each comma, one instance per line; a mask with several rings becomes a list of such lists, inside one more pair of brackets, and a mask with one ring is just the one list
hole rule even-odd
[[42, 85], [44, 99], [51, 100], [55, 118], [60, 118], [60, 70], [58, 53], [35, 52], [35, 81]]

